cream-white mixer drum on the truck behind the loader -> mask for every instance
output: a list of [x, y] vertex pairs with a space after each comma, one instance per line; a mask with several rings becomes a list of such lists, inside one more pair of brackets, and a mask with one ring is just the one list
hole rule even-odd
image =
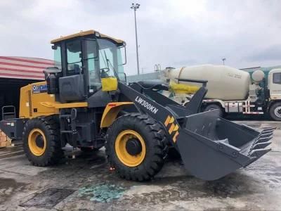
[[[225, 65], [197, 65], [177, 68], [169, 70], [167, 77], [174, 82], [178, 82], [176, 78], [207, 80], [208, 93], [206, 98], [221, 99], [224, 101], [247, 98], [249, 84], [251, 84], [248, 72]], [[180, 83], [201, 86], [201, 84], [191, 82]]]

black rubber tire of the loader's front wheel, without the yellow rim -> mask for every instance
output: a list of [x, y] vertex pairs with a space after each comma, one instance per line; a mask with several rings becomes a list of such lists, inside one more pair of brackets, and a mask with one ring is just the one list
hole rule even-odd
[[[117, 136], [129, 129], [138, 132], [145, 142], [144, 160], [135, 167], [129, 167], [119, 160], [115, 150]], [[161, 124], [139, 113], [126, 114], [115, 120], [107, 130], [105, 141], [111, 167], [115, 168], [119, 177], [133, 181], [146, 181], [154, 177], [162, 169], [168, 151], [166, 132]]]

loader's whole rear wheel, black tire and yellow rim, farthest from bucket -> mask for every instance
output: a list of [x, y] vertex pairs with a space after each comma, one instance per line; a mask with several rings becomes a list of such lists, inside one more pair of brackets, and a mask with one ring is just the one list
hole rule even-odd
[[53, 117], [28, 120], [23, 129], [23, 149], [32, 165], [47, 166], [63, 157], [58, 123]]

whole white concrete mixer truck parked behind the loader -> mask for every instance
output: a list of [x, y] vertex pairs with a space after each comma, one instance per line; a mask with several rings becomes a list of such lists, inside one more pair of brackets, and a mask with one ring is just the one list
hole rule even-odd
[[[197, 65], [169, 68], [164, 77], [170, 83], [169, 94], [178, 103], [186, 104], [199, 84], [186, 79], [207, 80], [207, 96], [202, 111], [218, 109], [220, 115], [267, 115], [281, 121], [281, 68], [265, 76], [261, 70], [249, 74], [225, 65]], [[191, 96], [189, 95], [191, 94]]]

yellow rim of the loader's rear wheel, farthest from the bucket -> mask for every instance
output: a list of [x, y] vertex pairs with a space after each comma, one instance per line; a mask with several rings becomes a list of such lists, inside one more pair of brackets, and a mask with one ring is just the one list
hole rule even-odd
[[[43, 146], [39, 144], [39, 141], [43, 141]], [[28, 135], [28, 146], [33, 155], [41, 156], [44, 154], [46, 150], [46, 137], [41, 129], [32, 129]]]

